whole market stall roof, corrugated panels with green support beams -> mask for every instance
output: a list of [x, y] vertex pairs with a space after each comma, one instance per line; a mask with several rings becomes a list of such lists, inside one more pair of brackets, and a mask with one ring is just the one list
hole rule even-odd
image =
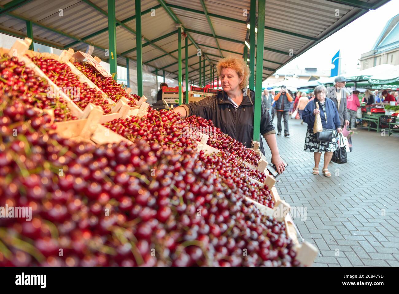
[[[211, 66], [220, 58], [240, 57], [246, 51], [251, 0], [141, 2], [142, 61], [154, 73], [165, 71], [171, 77], [178, 76], [176, 24], [183, 26], [189, 39], [187, 74], [190, 81], [199, 80], [198, 50], [205, 58], [205, 83], [209, 83]], [[267, 0], [263, 79], [385, 2], [388, 0]], [[75, 51], [85, 51], [92, 45], [94, 56], [109, 59], [106, 54], [109, 49], [107, 0], [2, 0], [0, 4], [0, 32], [24, 38], [32, 28], [37, 43]], [[117, 62], [123, 66], [126, 60], [137, 58], [134, 12], [134, 1], [115, 2]], [[186, 74], [184, 66], [182, 74]]]

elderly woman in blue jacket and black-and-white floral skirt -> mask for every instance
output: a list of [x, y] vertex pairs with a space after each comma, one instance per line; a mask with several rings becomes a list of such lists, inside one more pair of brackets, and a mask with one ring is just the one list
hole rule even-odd
[[[323, 85], [317, 86], [314, 88], [314, 95], [316, 99], [309, 101], [302, 113], [303, 121], [308, 124], [304, 151], [314, 152], [314, 168], [312, 172], [314, 175], [319, 174], [319, 163], [322, 152], [324, 152], [323, 175], [331, 177], [328, 165], [330, 164], [332, 153], [338, 148], [338, 133], [342, 132], [340, 116], [334, 101], [326, 98], [326, 87]], [[316, 108], [316, 103], [318, 103], [319, 109]], [[313, 133], [314, 119], [317, 113], [320, 113], [323, 129], [334, 129], [331, 142], [318, 141], [317, 134]]]

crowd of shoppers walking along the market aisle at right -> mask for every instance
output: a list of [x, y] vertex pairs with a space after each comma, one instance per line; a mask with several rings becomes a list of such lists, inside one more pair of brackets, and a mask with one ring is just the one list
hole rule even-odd
[[[281, 119], [283, 118], [284, 135], [289, 136], [288, 115], [298, 111], [301, 124], [307, 123], [308, 125], [304, 151], [314, 153], [312, 173], [314, 175], [319, 174], [319, 163], [321, 155], [324, 153], [322, 173], [325, 177], [331, 177], [328, 165], [334, 151], [338, 149], [338, 133], [342, 133], [343, 128], [347, 131], [347, 127], [350, 130], [357, 130], [356, 119], [359, 117], [361, 109], [360, 100], [365, 106], [393, 101], [396, 105], [399, 103], [398, 91], [383, 90], [380, 92], [379, 90], [366, 89], [364, 97], [360, 99], [359, 96], [358, 90], [351, 91], [346, 87], [345, 77], [338, 76], [334, 80], [333, 86], [326, 88], [324, 85], [319, 85], [309, 93], [298, 91], [292, 94], [285, 86], [281, 86], [277, 94], [265, 89], [262, 99], [267, 110], [271, 113], [272, 122], [277, 115], [277, 135], [281, 135]], [[317, 114], [320, 115], [323, 129], [332, 130], [332, 139], [329, 142], [318, 140], [318, 133], [313, 133]]]

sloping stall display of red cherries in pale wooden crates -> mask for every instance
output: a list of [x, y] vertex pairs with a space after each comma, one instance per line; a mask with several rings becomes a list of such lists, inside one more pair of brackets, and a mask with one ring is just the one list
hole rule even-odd
[[[32, 208], [30, 222], [1, 219], [1, 266], [312, 264], [317, 250], [299, 244], [257, 143], [246, 149], [211, 121], [143, 101], [102, 121], [103, 93], [57, 58], [32, 60], [47, 79], [0, 60], [0, 206]], [[46, 102], [49, 82], [81, 87], [86, 118], [57, 112], [62, 98]], [[103, 90], [113, 107], [127, 99]]]

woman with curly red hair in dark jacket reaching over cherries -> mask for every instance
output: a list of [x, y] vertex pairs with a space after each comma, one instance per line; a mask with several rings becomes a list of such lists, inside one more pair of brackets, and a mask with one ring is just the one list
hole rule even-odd
[[[243, 143], [245, 147], [251, 148], [255, 92], [245, 87], [248, 85], [249, 69], [242, 58], [227, 57], [217, 63], [217, 74], [221, 79], [223, 90], [197, 103], [180, 105], [174, 111], [181, 117], [197, 115], [211, 119], [223, 133]], [[261, 105], [261, 135], [271, 150], [271, 163], [276, 166], [279, 173], [282, 173], [284, 164], [277, 147], [275, 127], [264, 103]], [[260, 143], [261, 151], [265, 154], [262, 141]]]

